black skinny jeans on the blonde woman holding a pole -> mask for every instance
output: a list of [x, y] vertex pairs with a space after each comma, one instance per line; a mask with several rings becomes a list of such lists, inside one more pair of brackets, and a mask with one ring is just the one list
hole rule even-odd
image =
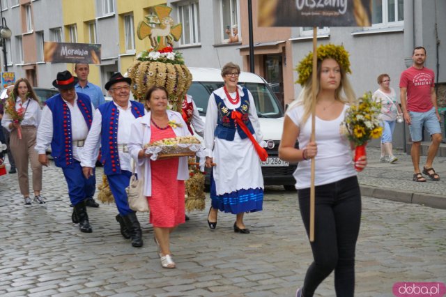
[[[298, 190], [300, 214], [309, 234], [309, 188]], [[336, 296], [355, 293], [355, 247], [360, 230], [361, 192], [357, 177], [315, 188], [314, 261], [305, 275], [302, 295], [312, 297], [334, 270]]]

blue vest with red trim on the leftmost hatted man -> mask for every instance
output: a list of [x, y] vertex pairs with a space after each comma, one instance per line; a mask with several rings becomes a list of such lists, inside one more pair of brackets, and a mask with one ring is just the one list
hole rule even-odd
[[[51, 155], [54, 158], [54, 163], [57, 167], [72, 167], [72, 121], [70, 109], [66, 102], [63, 101], [61, 94], [52, 96], [45, 103], [53, 114]], [[90, 97], [82, 93], [77, 93], [77, 107], [82, 112], [85, 123], [90, 130], [91, 121], [93, 120]]]

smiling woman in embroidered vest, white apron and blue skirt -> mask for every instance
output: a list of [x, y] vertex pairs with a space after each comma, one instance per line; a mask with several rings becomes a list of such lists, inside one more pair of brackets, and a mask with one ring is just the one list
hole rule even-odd
[[[238, 75], [240, 67], [227, 63], [222, 68], [224, 86], [213, 91], [208, 102], [204, 144], [206, 167], [213, 167], [208, 224], [210, 229], [215, 229], [220, 209], [236, 215], [235, 232], [248, 234], [243, 215], [262, 210], [263, 176], [259, 157], [266, 158], [266, 151], [259, 145], [263, 137], [254, 99], [246, 88], [237, 84]], [[243, 122], [245, 130], [240, 122], [236, 123], [236, 117]]]

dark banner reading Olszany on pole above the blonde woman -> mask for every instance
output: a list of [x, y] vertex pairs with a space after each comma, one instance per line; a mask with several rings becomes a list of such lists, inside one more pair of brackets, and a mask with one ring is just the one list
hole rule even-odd
[[258, 26], [371, 26], [371, 0], [259, 0]]

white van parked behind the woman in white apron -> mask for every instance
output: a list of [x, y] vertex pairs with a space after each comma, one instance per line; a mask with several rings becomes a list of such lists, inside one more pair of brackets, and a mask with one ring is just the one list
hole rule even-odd
[[[221, 70], [215, 68], [193, 68], [192, 85], [187, 93], [194, 98], [199, 114], [206, 117], [210, 94], [223, 86]], [[240, 73], [238, 83], [245, 86], [254, 98], [254, 103], [259, 116], [260, 128], [263, 140], [269, 143], [268, 160], [262, 162], [262, 173], [265, 185], [284, 185], [286, 190], [294, 190], [295, 180], [293, 172], [297, 164], [289, 164], [279, 159], [278, 148], [282, 138], [284, 124], [284, 110], [279, 104], [268, 83], [254, 73]], [[206, 184], [209, 184], [206, 178]]]

